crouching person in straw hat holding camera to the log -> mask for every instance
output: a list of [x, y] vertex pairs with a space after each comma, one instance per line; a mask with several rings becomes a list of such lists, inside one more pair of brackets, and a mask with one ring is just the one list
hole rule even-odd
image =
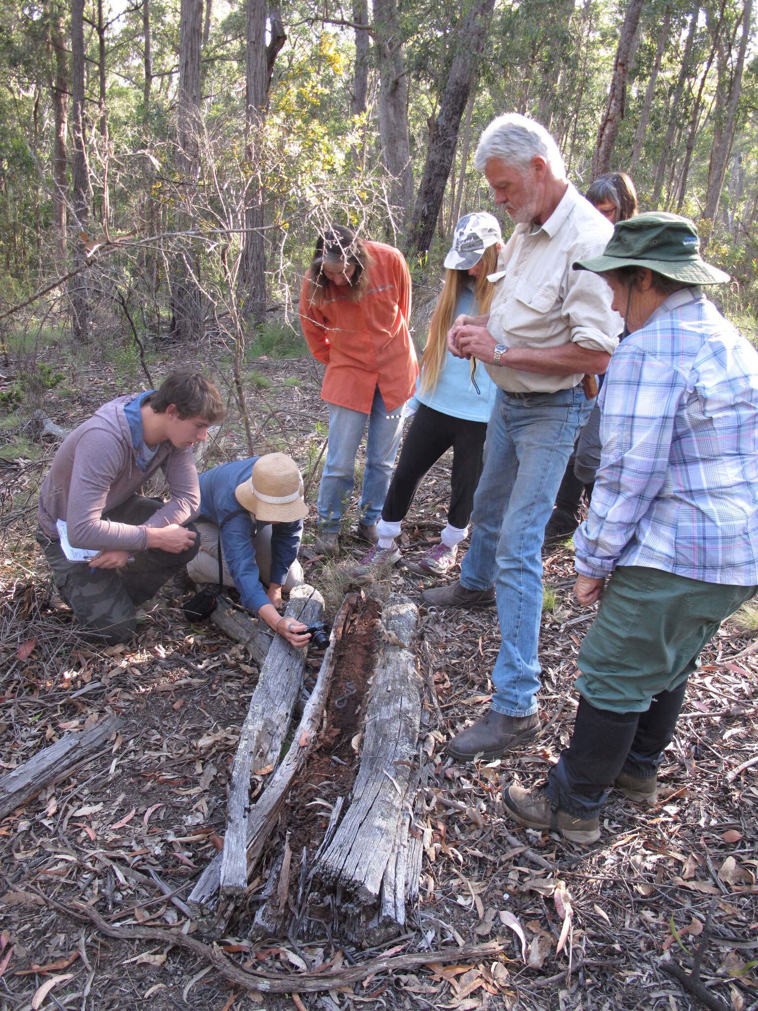
[[200, 474], [200, 550], [187, 574], [217, 583], [220, 548], [221, 583], [235, 586], [242, 606], [293, 646], [305, 646], [306, 626], [277, 609], [282, 590], [302, 582], [297, 552], [307, 515], [300, 471], [286, 453], [212, 467]]

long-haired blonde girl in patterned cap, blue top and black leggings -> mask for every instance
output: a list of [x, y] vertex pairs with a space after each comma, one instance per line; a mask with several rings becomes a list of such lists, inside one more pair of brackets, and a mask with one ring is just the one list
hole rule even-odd
[[455, 226], [453, 248], [445, 258], [445, 285], [430, 324], [420, 375], [405, 407], [405, 417], [412, 416], [413, 421], [376, 525], [379, 543], [361, 560], [363, 566], [394, 565], [400, 560], [394, 541], [400, 533], [400, 521], [407, 515], [430, 468], [451, 447], [448, 523], [440, 544], [424, 553], [419, 567], [444, 575], [456, 563], [458, 545], [468, 534], [496, 387], [480, 362], [472, 359], [470, 368], [468, 362], [450, 353], [447, 334], [458, 316], [489, 310], [494, 288], [487, 275], [497, 266], [501, 239], [499, 221], [486, 211], [466, 214]]

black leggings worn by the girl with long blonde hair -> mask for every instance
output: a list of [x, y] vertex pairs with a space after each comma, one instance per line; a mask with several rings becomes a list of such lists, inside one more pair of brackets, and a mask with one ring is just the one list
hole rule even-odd
[[410, 423], [382, 508], [382, 520], [404, 519], [418, 485], [443, 453], [453, 447], [448, 522], [463, 528], [469, 522], [474, 492], [482, 472], [486, 422], [465, 422], [421, 403]]

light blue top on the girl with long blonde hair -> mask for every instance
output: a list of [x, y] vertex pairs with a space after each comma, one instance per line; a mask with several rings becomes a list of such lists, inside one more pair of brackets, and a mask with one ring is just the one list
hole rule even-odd
[[[474, 292], [466, 287], [458, 296], [453, 317], [462, 314], [476, 315], [476, 311]], [[456, 358], [449, 351], [434, 389], [420, 392], [421, 374], [416, 379], [415, 393], [408, 401], [411, 407], [417, 409], [418, 404], [423, 403], [433, 410], [450, 415], [451, 418], [460, 418], [465, 422], [489, 421], [497, 387], [485, 372], [481, 362], [476, 363], [474, 374], [479, 387], [478, 393], [471, 382], [471, 363], [465, 358]]]

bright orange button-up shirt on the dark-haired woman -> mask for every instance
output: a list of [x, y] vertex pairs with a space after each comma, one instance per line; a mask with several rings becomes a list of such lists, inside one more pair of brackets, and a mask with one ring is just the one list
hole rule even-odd
[[361, 299], [353, 302], [329, 284], [316, 305], [306, 277], [300, 324], [311, 355], [326, 366], [321, 399], [368, 415], [377, 385], [387, 410], [410, 398], [418, 363], [408, 331], [410, 273], [405, 259], [392, 246], [365, 245], [372, 263]]

